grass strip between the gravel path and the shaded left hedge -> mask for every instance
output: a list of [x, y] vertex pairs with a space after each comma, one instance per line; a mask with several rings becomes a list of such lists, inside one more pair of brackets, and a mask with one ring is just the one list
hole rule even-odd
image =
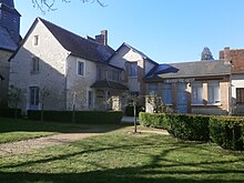
[[[92, 128], [89, 124], [39, 122], [6, 118], [0, 118], [0, 143], [48, 136], [55, 133], [83, 132]], [[105, 132], [114, 128], [120, 128], [120, 125], [104, 124], [96, 128]]]

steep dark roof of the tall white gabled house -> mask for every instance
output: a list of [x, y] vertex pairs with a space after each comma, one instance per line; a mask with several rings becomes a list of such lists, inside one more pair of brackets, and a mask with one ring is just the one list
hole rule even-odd
[[94, 62], [108, 62], [108, 59], [114, 53], [109, 45], [82, 38], [41, 18], [39, 20], [44, 23], [62, 47], [75, 57]]

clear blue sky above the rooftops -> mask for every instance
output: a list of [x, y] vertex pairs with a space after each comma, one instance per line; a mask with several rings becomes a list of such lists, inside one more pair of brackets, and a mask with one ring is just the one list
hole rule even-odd
[[197, 61], [204, 47], [214, 59], [225, 47], [244, 49], [244, 0], [55, 1], [57, 10], [42, 13], [31, 0], [16, 0], [20, 34], [37, 17], [82, 37], [108, 30], [114, 50], [126, 42], [159, 63]]

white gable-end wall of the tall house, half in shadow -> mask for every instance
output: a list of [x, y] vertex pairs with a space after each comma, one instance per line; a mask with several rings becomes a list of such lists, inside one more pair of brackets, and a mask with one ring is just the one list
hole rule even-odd
[[[39, 45], [33, 45], [33, 37], [39, 35]], [[65, 109], [65, 61], [68, 51], [55, 40], [42, 22], [38, 22], [33, 31], [19, 49], [10, 65], [10, 85], [24, 91], [21, 109], [29, 110], [30, 87], [44, 87], [50, 95], [45, 101], [47, 110]], [[31, 73], [32, 58], [40, 58], [40, 71]]]

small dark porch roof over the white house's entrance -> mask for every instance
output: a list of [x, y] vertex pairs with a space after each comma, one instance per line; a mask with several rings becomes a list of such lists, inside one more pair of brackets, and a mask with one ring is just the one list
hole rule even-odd
[[99, 80], [95, 81], [91, 88], [95, 89], [119, 89], [119, 90], [128, 90], [128, 88], [119, 82], [114, 81], [106, 81], [106, 80]]

